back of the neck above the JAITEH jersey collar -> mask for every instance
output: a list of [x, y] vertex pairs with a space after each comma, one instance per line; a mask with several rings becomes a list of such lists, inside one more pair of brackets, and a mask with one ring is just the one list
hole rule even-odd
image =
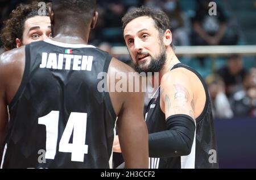
[[88, 44], [89, 28], [74, 26], [55, 26], [53, 28], [55, 36], [52, 40], [69, 44]]

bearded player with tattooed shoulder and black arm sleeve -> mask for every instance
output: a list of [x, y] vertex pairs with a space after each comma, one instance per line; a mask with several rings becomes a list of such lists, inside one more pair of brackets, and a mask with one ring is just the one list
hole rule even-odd
[[159, 72], [160, 87], [145, 117], [150, 168], [218, 168], [207, 86], [175, 56], [170, 19], [141, 7], [127, 12], [122, 23], [137, 72]]

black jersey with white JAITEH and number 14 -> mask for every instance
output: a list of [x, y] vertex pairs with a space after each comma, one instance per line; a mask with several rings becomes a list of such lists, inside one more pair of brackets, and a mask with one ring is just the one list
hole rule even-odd
[[26, 45], [2, 167], [109, 168], [116, 115], [98, 85], [111, 59], [92, 45]]

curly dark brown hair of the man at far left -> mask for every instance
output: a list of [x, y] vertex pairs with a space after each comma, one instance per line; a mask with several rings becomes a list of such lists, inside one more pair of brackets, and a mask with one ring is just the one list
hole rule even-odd
[[[24, 22], [28, 18], [38, 16], [38, 1], [31, 4], [20, 4], [10, 14], [10, 18], [4, 22], [4, 28], [1, 31], [1, 40], [3, 43], [3, 51], [9, 51], [16, 48], [16, 38], [23, 39]], [[46, 4], [46, 16], [48, 14], [48, 7], [50, 3]]]

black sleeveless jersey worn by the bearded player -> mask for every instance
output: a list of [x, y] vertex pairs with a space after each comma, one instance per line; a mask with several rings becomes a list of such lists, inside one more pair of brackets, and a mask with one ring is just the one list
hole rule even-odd
[[[203, 78], [196, 70], [183, 64], [176, 64], [174, 68], [191, 70], [203, 83], [206, 95], [206, 103], [202, 114], [196, 118], [196, 133], [191, 153], [188, 156], [170, 158], [150, 158], [150, 168], [218, 168], [217, 146], [214, 135], [212, 107]], [[148, 133], [167, 130], [166, 118], [160, 108], [160, 87], [148, 103], [146, 111], [146, 123]], [[170, 142], [171, 143], [171, 142]]]

